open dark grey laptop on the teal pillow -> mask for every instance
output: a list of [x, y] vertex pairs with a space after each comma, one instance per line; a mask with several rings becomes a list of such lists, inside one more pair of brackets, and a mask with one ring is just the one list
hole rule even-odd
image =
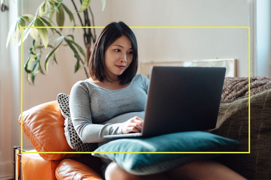
[[150, 137], [215, 128], [225, 73], [225, 67], [152, 67], [141, 132], [104, 138]]

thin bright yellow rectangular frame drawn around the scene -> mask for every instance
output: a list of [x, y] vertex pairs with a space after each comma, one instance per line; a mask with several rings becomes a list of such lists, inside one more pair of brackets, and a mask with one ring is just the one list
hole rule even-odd
[[[36, 26], [36, 27], [21, 27], [21, 42], [23, 42], [23, 29], [24, 28], [104, 28], [105, 26]], [[130, 28], [247, 28], [248, 29], [248, 152], [21, 152], [25, 154], [39, 153], [39, 154], [89, 154], [89, 153], [151, 153], [151, 154], [249, 154], [250, 153], [250, 26], [129, 26]], [[23, 149], [23, 44], [21, 43], [21, 149]]]

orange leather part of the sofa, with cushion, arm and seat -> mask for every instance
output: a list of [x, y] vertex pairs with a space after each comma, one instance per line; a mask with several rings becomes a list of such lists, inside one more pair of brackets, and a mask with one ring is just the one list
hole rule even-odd
[[[57, 101], [24, 111], [23, 118], [19, 117], [20, 124], [21, 120], [23, 132], [35, 148], [28, 152], [74, 152], [65, 138], [65, 119], [61, 115]], [[24, 180], [102, 179], [100, 158], [89, 154], [23, 153], [21, 165]]]

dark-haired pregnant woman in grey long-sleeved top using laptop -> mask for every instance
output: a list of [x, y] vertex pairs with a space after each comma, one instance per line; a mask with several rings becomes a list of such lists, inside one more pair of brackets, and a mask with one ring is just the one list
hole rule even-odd
[[[123, 22], [107, 25], [93, 46], [90, 78], [73, 85], [70, 114], [83, 143], [107, 143], [104, 135], [140, 132], [144, 120], [149, 80], [136, 74], [136, 37]], [[115, 162], [101, 159], [105, 179], [244, 179], [214, 161], [198, 161], [168, 172], [132, 175]]]

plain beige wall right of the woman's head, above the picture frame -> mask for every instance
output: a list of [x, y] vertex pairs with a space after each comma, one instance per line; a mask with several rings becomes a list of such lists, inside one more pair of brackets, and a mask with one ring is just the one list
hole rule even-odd
[[[117, 0], [111, 7], [112, 20], [129, 26], [249, 26], [247, 0]], [[133, 31], [140, 61], [235, 58], [237, 76], [248, 76], [248, 29]]]

